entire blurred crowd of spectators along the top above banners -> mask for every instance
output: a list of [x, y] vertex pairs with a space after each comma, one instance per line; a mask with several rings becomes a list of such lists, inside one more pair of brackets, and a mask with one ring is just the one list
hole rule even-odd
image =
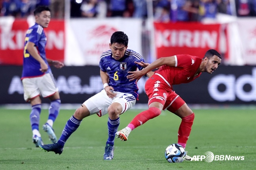
[[[256, 0], [69, 0], [70, 17], [153, 16], [158, 22], [214, 20], [217, 13], [256, 16]], [[1, 16], [27, 17], [36, 6], [51, 8], [53, 18], [64, 18], [65, 0], [0, 0]], [[147, 7], [152, 5], [151, 12]]]

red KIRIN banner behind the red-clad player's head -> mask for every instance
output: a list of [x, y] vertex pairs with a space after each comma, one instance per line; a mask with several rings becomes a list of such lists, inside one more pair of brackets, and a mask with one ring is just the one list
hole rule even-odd
[[219, 51], [220, 24], [199, 22], [154, 23], [157, 58], [176, 54], [201, 56], [209, 49]]

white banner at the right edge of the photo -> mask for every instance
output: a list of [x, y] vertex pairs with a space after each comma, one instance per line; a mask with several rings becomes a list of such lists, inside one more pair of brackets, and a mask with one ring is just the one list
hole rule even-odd
[[256, 19], [237, 18], [245, 64], [256, 65]]

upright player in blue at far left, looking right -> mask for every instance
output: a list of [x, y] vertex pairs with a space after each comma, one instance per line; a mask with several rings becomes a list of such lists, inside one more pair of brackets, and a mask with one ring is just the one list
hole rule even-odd
[[47, 39], [44, 28], [48, 27], [51, 20], [50, 9], [47, 6], [39, 6], [35, 9], [34, 15], [36, 23], [28, 29], [25, 37], [21, 80], [24, 87], [24, 99], [25, 101], [30, 101], [32, 105], [30, 113], [32, 139], [36, 147], [39, 147], [43, 145], [39, 132], [42, 103], [40, 95], [49, 98], [51, 101], [49, 117], [43, 125], [43, 129], [47, 132], [51, 142], [57, 142], [52, 126], [59, 114], [61, 99], [49, 64], [56, 68], [61, 68], [64, 64], [46, 58], [45, 47]]

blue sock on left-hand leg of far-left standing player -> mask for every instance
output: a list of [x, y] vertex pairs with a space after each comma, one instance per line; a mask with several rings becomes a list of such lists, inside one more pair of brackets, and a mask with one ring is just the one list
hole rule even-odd
[[41, 113], [41, 104], [32, 106], [32, 110], [30, 112], [30, 124], [32, 127], [32, 131], [34, 129], [39, 130], [39, 121], [40, 121], [40, 113]]

